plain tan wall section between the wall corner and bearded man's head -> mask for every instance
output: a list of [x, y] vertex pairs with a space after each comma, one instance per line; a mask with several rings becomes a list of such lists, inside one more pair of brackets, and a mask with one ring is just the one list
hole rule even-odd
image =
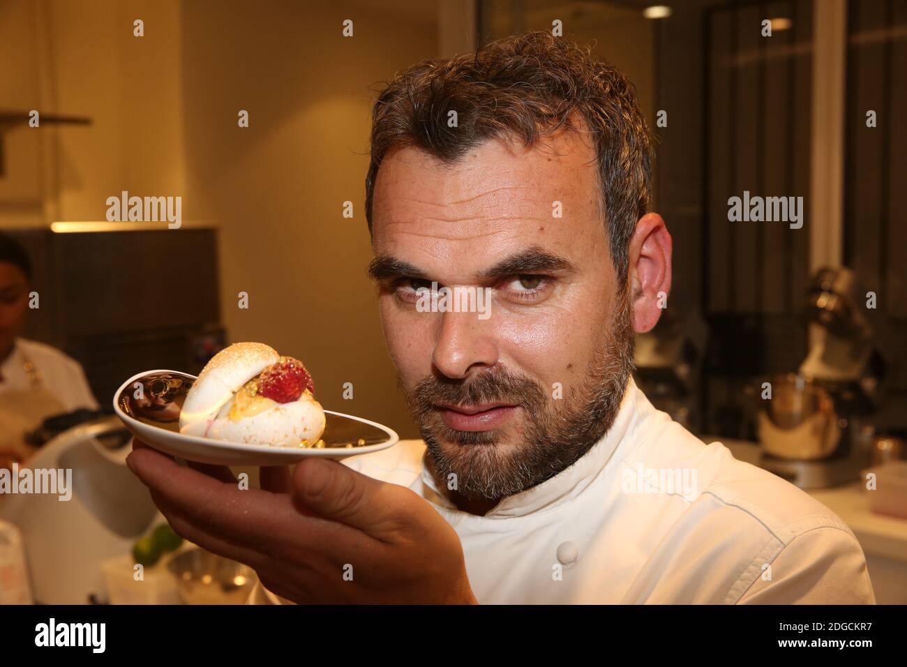
[[[192, 2], [181, 15], [188, 197], [219, 221], [221, 313], [233, 340], [301, 358], [328, 409], [415, 436], [366, 278], [372, 85], [438, 42], [434, 8]], [[352, 19], [354, 34], [341, 25]], [[237, 114], [249, 112], [249, 128]], [[355, 217], [342, 217], [352, 201]], [[238, 308], [240, 291], [249, 309]], [[353, 400], [342, 398], [352, 382]]]

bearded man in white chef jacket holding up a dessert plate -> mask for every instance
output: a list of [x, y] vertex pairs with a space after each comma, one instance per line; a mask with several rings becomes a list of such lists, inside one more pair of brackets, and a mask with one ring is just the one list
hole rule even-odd
[[[630, 376], [671, 281], [650, 152], [627, 79], [550, 34], [397, 75], [370, 272], [424, 444], [249, 491], [141, 443], [129, 465], [180, 535], [291, 602], [872, 603], [840, 519]], [[426, 309], [444, 288], [485, 290], [490, 316]]]

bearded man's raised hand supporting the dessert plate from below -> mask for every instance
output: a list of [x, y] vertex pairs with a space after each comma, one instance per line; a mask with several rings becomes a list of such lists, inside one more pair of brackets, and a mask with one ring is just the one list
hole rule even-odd
[[178, 466], [138, 440], [126, 462], [173, 530], [288, 600], [476, 603], [459, 535], [403, 486], [313, 457], [242, 490], [228, 467]]

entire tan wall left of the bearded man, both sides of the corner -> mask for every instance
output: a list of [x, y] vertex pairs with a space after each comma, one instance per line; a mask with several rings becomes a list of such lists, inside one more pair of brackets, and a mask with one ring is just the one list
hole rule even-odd
[[[415, 436], [366, 278], [371, 101], [395, 71], [471, 35], [463, 22], [439, 34], [434, 2], [324, 5], [0, 0], [0, 112], [92, 121], [3, 128], [0, 229], [103, 221], [122, 190], [181, 196], [183, 227], [219, 229], [229, 340], [302, 358], [325, 407]], [[453, 5], [465, 16], [473, 3]]]

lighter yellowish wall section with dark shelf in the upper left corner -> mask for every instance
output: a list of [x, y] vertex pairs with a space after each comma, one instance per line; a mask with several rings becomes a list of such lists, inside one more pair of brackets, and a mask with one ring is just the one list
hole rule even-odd
[[122, 190], [183, 194], [179, 6], [0, 2], [0, 109], [92, 120], [7, 128], [0, 226], [104, 220]]

